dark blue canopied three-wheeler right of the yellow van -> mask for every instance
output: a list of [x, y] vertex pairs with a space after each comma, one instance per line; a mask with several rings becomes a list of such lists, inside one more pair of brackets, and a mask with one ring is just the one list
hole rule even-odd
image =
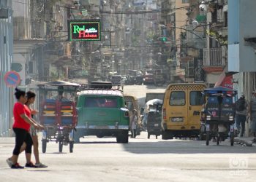
[[209, 145], [211, 138], [219, 142], [230, 138], [230, 145], [234, 144], [234, 124], [236, 110], [234, 96], [236, 90], [225, 87], [214, 87], [203, 90], [204, 104], [200, 124], [200, 140], [206, 138]]

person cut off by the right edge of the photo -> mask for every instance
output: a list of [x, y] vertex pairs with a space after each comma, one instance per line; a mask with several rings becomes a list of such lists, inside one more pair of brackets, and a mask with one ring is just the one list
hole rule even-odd
[[256, 143], [256, 90], [252, 92], [252, 100], [249, 104], [249, 116], [251, 119], [251, 132], [253, 134], [252, 142]]

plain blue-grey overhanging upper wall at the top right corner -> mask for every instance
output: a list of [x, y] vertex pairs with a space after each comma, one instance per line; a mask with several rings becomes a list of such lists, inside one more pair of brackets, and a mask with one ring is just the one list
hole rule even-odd
[[256, 71], [256, 42], [244, 41], [256, 38], [255, 7], [256, 1], [228, 1], [228, 71]]

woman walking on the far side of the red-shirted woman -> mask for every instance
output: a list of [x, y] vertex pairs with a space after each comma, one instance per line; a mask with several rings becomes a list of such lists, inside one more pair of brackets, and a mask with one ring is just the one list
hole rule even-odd
[[[36, 98], [36, 94], [34, 92], [26, 92], [27, 95], [27, 101], [26, 106], [29, 107], [29, 110], [31, 111], [31, 117], [34, 118], [34, 115], [37, 114], [36, 110], [31, 109], [31, 104], [34, 103], [34, 100]], [[39, 149], [38, 149], [38, 136], [37, 136], [37, 129], [32, 125], [30, 127], [30, 134], [32, 136], [33, 140], [33, 151], [34, 151], [34, 158], [36, 160], [36, 163], [34, 164], [37, 168], [45, 168], [48, 167], [47, 165], [44, 165], [39, 160]], [[23, 143], [23, 146], [20, 149], [20, 153], [26, 149], [26, 144]]]

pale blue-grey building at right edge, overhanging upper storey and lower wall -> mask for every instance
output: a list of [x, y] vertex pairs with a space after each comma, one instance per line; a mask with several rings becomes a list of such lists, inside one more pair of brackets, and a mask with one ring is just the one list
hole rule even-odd
[[[244, 94], [251, 100], [256, 89], [256, 1], [228, 1], [228, 71], [233, 75], [233, 83], [238, 96]], [[246, 136], [249, 136], [249, 123], [246, 123]]]

